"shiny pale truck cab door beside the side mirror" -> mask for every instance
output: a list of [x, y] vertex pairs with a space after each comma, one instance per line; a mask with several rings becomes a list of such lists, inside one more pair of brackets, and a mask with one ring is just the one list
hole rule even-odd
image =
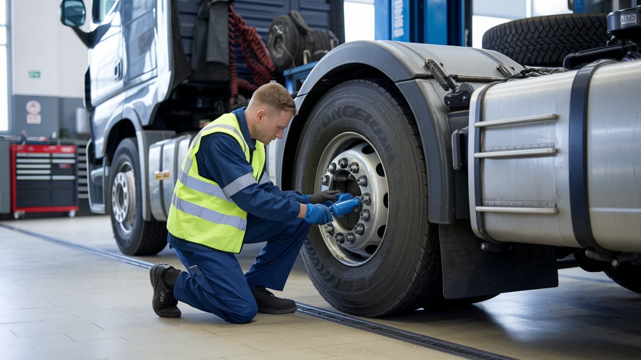
[[95, 106], [121, 92], [124, 86], [120, 0], [94, 0], [93, 21], [106, 31], [89, 49], [91, 103]]

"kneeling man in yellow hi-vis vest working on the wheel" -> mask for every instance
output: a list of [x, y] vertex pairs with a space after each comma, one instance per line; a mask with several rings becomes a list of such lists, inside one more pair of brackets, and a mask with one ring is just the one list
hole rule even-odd
[[[265, 146], [296, 116], [285, 87], [258, 88], [246, 108], [224, 114], [194, 138], [174, 187], [167, 242], [188, 271], [158, 263], [149, 271], [154, 312], [181, 315], [178, 300], [232, 323], [257, 312], [296, 311], [278, 298], [311, 224], [332, 220], [338, 191], [281, 191], [265, 172]], [[267, 243], [247, 273], [236, 258], [244, 243]]]

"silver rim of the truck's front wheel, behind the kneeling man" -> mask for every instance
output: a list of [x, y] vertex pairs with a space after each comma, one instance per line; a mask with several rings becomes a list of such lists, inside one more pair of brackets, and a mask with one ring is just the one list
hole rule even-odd
[[124, 234], [131, 233], [135, 220], [135, 176], [131, 164], [121, 164], [113, 178], [112, 214]]

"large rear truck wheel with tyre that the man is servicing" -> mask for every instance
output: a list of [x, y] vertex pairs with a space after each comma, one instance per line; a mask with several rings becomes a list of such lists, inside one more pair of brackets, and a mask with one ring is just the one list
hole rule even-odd
[[308, 116], [294, 167], [302, 193], [338, 189], [363, 199], [362, 209], [312, 227], [301, 250], [329, 304], [376, 317], [442, 296], [419, 132], [393, 85], [352, 80], [329, 90]]

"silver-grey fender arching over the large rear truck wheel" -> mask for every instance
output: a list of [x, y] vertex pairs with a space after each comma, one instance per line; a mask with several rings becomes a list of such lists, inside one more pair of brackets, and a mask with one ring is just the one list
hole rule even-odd
[[[284, 146], [276, 146], [283, 159], [281, 183], [287, 186], [293, 168], [298, 135], [313, 105], [329, 89], [347, 80], [386, 78], [394, 83], [407, 101], [419, 128], [428, 169], [429, 221], [438, 224], [454, 222], [454, 173], [451, 155], [451, 130], [445, 120], [445, 91], [433, 80], [426, 67], [434, 60], [450, 74], [499, 77], [498, 65], [518, 73], [523, 69], [510, 58], [471, 47], [412, 44], [394, 41], [354, 41], [342, 44], [324, 56], [312, 69], [295, 99], [298, 119], [283, 136]], [[293, 141], [287, 142], [290, 134]], [[277, 155], [277, 156], [278, 156]]]

